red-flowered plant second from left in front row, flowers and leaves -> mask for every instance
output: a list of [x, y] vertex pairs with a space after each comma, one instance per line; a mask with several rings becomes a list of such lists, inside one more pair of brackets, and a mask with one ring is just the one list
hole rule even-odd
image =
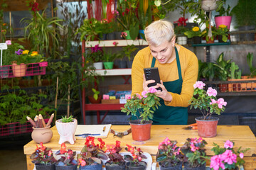
[[69, 166], [76, 165], [78, 162], [75, 160], [76, 152], [73, 152], [71, 149], [67, 150], [65, 143], [60, 145], [60, 150], [58, 150], [56, 155], [61, 155], [60, 159], [58, 159], [57, 164], [60, 166]]

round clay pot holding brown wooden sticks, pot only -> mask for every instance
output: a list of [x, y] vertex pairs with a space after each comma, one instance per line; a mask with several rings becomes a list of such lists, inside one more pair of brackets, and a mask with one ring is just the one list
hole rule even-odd
[[50, 142], [51, 138], [53, 137], [53, 131], [50, 129], [50, 126], [46, 128], [33, 128], [31, 137], [36, 143], [47, 143]]

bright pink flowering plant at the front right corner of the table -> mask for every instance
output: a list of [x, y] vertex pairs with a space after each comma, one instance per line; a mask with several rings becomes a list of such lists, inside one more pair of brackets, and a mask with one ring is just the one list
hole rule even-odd
[[214, 156], [210, 158], [210, 168], [213, 170], [219, 169], [235, 169], [237, 166], [241, 166], [245, 164], [245, 161], [242, 159], [244, 157], [244, 153], [249, 150], [241, 149], [239, 147], [236, 151], [233, 148], [235, 143], [233, 141], [227, 140], [224, 143], [224, 148], [221, 148], [219, 145], [213, 142]]

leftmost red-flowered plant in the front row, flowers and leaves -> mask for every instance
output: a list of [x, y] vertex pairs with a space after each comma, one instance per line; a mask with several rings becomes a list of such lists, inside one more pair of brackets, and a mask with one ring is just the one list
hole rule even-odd
[[50, 165], [55, 164], [57, 160], [53, 157], [53, 151], [46, 146], [43, 146], [43, 142], [40, 143], [39, 147], [36, 145], [36, 151], [31, 154], [33, 164]]

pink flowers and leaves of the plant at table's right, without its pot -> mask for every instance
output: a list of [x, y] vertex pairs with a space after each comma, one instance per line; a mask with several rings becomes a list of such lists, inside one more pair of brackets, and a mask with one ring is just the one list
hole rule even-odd
[[193, 85], [194, 92], [193, 97], [189, 101], [191, 108], [199, 108], [201, 113], [203, 113], [203, 120], [210, 120], [210, 116], [213, 113], [220, 115], [225, 111], [227, 102], [223, 98], [216, 98], [217, 91], [211, 87], [204, 90], [206, 84], [203, 81], [196, 81], [196, 84]]

